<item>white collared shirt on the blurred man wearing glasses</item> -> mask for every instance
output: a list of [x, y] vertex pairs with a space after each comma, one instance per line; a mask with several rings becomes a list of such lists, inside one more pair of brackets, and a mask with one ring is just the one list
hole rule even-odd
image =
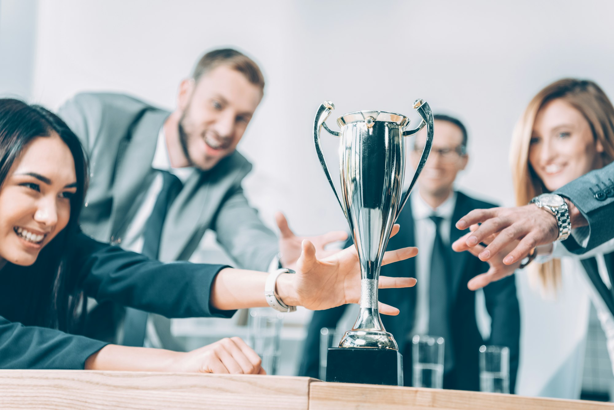
[[416, 256], [416, 279], [419, 286], [416, 287], [416, 309], [414, 312], [414, 327], [410, 335], [426, 335], [429, 331], [429, 284], [430, 284], [430, 259], [433, 253], [435, 241], [435, 222], [430, 220], [431, 215], [443, 218], [440, 222], [440, 234], [446, 246], [450, 242], [450, 228], [452, 215], [456, 206], [456, 192], [452, 192], [448, 199], [436, 209], [427, 204], [420, 192], [410, 195], [411, 214], [414, 219], [415, 246], [419, 252]]

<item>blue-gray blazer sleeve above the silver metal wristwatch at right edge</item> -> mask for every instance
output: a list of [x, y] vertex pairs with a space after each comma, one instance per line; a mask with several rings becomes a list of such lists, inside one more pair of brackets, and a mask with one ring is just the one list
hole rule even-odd
[[588, 227], [572, 230], [569, 239], [562, 242], [567, 250], [585, 253], [614, 238], [614, 163], [588, 172], [554, 193], [569, 198], [588, 221]]

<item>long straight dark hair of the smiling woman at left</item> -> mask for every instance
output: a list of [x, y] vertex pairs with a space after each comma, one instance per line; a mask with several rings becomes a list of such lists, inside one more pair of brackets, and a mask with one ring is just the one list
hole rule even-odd
[[11, 166], [28, 144], [54, 132], [68, 145], [74, 158], [77, 192], [71, 197], [70, 219], [66, 228], [41, 250], [33, 265], [12, 265], [10, 268], [27, 280], [28, 297], [21, 301], [23, 305], [20, 303], [24, 309], [20, 322], [69, 331], [83, 299], [74, 287], [76, 278], [71, 277], [67, 257], [79, 229], [77, 221], [87, 190], [85, 153], [77, 136], [57, 115], [18, 99], [0, 99], [0, 189]]

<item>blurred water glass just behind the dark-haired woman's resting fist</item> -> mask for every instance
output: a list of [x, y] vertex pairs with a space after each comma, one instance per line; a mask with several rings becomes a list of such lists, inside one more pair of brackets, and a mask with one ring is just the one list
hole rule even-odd
[[276, 374], [279, 364], [281, 328], [284, 315], [271, 309], [250, 309], [247, 344], [262, 359], [266, 374]]

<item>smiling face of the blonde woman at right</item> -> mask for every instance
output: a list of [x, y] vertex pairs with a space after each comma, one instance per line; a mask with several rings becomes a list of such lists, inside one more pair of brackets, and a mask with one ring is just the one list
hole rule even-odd
[[602, 152], [586, 118], [563, 99], [553, 99], [537, 112], [529, 163], [549, 191], [601, 168]]

